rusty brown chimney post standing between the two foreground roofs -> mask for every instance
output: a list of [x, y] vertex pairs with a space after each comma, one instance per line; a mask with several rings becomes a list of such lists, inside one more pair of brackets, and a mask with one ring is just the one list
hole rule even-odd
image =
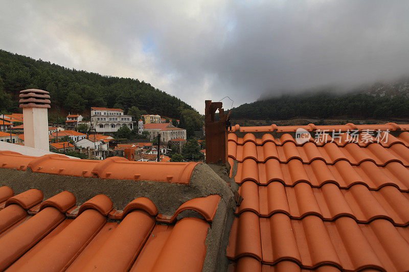
[[[226, 115], [222, 109], [223, 103], [206, 100], [205, 133], [206, 133], [206, 163], [227, 162], [227, 129]], [[215, 121], [216, 110], [219, 110], [220, 120]]]

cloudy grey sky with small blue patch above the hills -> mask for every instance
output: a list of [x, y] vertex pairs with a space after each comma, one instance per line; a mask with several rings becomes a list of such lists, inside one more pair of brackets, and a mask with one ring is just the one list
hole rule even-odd
[[[409, 75], [409, 1], [0, 0], [0, 48], [151, 83], [199, 112]], [[230, 107], [229, 101], [225, 108]]]

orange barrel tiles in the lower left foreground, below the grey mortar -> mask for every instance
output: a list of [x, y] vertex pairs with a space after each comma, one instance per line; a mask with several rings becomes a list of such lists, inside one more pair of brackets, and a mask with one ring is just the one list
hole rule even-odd
[[[170, 218], [146, 197], [119, 211], [103, 194], [76, 206], [69, 191], [43, 201], [40, 190], [13, 196], [3, 186], [0, 201], [0, 270], [200, 271], [220, 196], [187, 201]], [[204, 219], [176, 221], [186, 209]]]

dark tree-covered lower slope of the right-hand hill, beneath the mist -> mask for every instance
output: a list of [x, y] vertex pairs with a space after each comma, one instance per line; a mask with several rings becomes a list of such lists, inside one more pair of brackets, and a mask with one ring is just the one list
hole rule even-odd
[[283, 95], [243, 104], [232, 110], [233, 119], [284, 120], [304, 118], [409, 118], [409, 98], [358, 92], [336, 95], [330, 92]]

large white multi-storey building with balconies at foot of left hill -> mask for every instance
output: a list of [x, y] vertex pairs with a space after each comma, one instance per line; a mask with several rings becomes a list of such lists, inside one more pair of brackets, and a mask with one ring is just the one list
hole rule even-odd
[[122, 109], [91, 108], [91, 126], [98, 133], [117, 132], [122, 126], [133, 129], [132, 116]]

